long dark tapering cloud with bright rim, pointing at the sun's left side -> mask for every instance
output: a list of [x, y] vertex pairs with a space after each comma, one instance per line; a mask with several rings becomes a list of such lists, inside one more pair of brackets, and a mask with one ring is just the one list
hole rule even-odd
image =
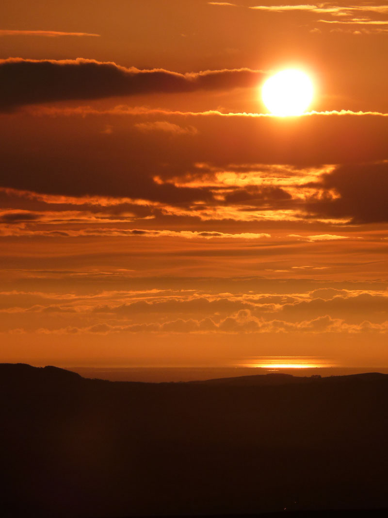
[[65, 99], [253, 87], [263, 77], [262, 71], [248, 68], [177, 74], [85, 59], [10, 58], [0, 61], [0, 109]]

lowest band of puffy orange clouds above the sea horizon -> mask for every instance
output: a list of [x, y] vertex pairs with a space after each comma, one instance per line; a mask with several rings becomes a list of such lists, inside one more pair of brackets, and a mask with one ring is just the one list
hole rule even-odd
[[[212, 282], [209, 285], [212, 286]], [[388, 291], [321, 287], [301, 293], [212, 290], [0, 293], [0, 330], [40, 334], [385, 334]], [[49, 325], [42, 326], [42, 318]], [[87, 322], [87, 325], [85, 325]]]

